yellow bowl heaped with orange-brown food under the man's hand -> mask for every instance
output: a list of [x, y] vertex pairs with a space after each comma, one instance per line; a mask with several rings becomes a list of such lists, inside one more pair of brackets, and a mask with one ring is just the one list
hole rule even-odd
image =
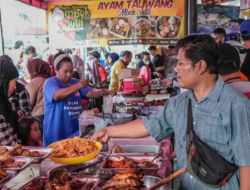
[[49, 145], [54, 151], [50, 155], [53, 162], [60, 164], [80, 164], [94, 159], [101, 151], [102, 144], [92, 140], [74, 137]]

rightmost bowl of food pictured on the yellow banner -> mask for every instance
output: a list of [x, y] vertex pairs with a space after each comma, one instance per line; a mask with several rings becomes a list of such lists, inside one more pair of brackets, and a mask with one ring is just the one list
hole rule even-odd
[[175, 38], [181, 26], [181, 17], [160, 16], [156, 21], [156, 32], [162, 38]]

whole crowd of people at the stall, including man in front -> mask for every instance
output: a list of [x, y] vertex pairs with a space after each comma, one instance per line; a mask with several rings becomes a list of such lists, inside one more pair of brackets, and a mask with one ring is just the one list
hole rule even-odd
[[[191, 101], [196, 135], [239, 166], [225, 189], [239, 189], [239, 181], [242, 189], [249, 189], [245, 176], [250, 174], [250, 20], [241, 24], [240, 38], [225, 39], [225, 30], [217, 28], [211, 36], [190, 35], [179, 40], [176, 49], [171, 46], [169, 51], [177, 55], [177, 64], [171, 66], [176, 77], [164, 80], [181, 93], [168, 100], [162, 111], [144, 120], [104, 128], [93, 140], [151, 135], [161, 141], [174, 132], [178, 167], [184, 167], [185, 108]], [[102, 111], [102, 97], [121, 89], [118, 74], [133, 58], [128, 50], [120, 55], [109, 53], [104, 67], [97, 51], [89, 52], [84, 63], [69, 48], [51, 55], [47, 62], [35, 47], [25, 48], [22, 41], [16, 42], [15, 49], [20, 52], [18, 58], [0, 57], [1, 145], [48, 146], [68, 138], [79, 130], [84, 103]], [[145, 84], [165, 78], [164, 57], [155, 46], [134, 58]], [[22, 78], [25, 75], [28, 82]], [[188, 173], [182, 182], [186, 189], [209, 189], [195, 179], [190, 181]]]

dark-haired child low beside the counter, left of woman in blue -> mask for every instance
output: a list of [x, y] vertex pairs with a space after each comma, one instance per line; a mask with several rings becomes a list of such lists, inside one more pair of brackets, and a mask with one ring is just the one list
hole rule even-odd
[[20, 124], [24, 132], [22, 145], [43, 147], [39, 123], [32, 117], [25, 117], [20, 120]]

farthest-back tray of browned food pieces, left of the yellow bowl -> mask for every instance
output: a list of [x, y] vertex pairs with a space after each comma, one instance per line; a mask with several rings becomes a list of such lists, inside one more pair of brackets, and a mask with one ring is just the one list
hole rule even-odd
[[19, 144], [14, 147], [2, 146], [0, 147], [0, 155], [10, 155], [11, 157], [32, 158], [33, 163], [40, 163], [47, 158], [53, 151], [51, 148], [43, 147], [26, 147]]

